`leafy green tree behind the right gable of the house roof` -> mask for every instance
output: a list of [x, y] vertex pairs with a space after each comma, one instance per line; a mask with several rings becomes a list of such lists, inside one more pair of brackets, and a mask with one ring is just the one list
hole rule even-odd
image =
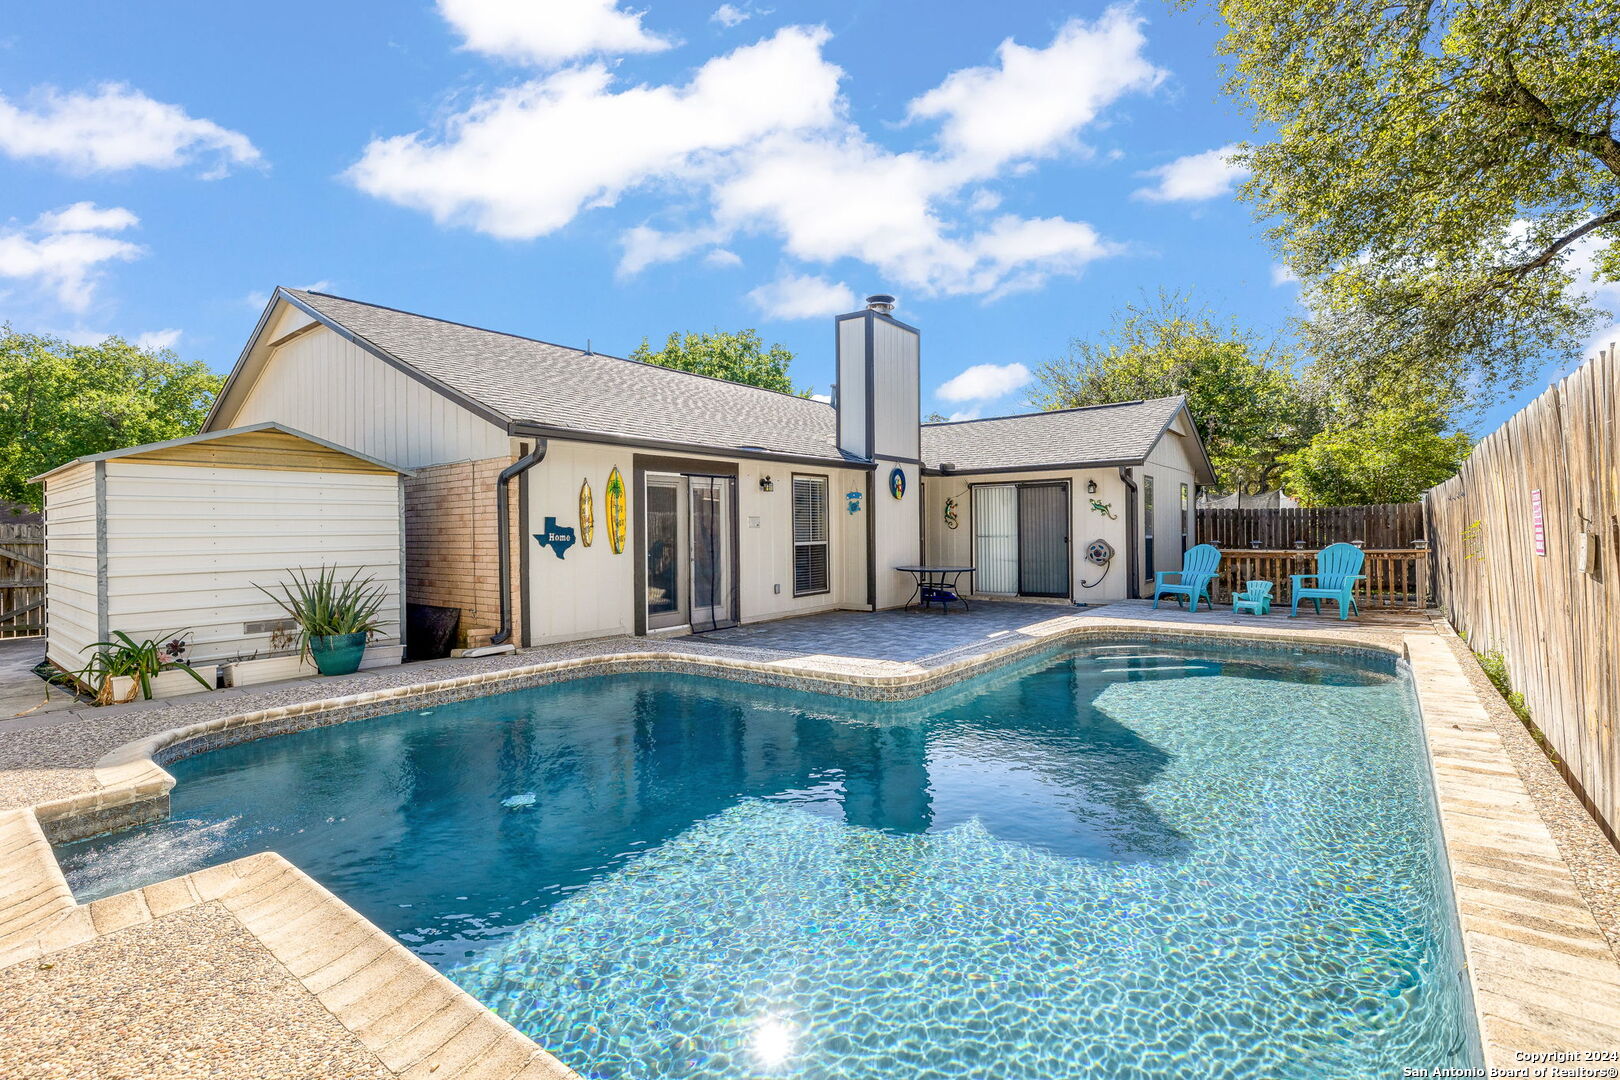
[[1320, 431], [1314, 384], [1275, 343], [1197, 311], [1184, 295], [1126, 304], [1098, 340], [1035, 371], [1040, 408], [1076, 408], [1187, 395], [1210, 465], [1225, 491], [1275, 487], [1281, 455]]

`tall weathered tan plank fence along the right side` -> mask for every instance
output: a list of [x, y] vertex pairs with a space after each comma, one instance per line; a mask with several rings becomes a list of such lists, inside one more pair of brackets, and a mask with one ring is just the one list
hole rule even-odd
[[1601, 353], [1474, 447], [1424, 505], [1435, 599], [1500, 653], [1610, 834], [1620, 826], [1620, 361]]

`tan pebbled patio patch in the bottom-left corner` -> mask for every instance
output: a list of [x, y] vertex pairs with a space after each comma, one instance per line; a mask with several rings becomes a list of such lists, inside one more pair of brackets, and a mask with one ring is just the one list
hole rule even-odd
[[0, 970], [0, 1077], [394, 1077], [217, 904]]

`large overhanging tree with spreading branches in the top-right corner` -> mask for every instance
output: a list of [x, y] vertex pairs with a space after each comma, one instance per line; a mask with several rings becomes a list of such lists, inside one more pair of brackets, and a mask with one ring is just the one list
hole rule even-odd
[[1620, 279], [1620, 5], [1217, 6], [1228, 87], [1270, 139], [1238, 154], [1244, 194], [1304, 283], [1315, 356], [1455, 403], [1578, 350], [1599, 317], [1578, 266]]

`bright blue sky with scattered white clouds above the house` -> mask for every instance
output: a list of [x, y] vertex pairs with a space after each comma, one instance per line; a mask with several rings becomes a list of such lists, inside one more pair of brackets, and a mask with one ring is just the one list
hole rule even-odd
[[1144, 291], [1294, 314], [1217, 39], [1158, 3], [13, 5], [0, 317], [227, 371], [319, 287], [617, 355], [758, 327], [825, 392], [829, 316], [893, 291], [925, 411], [1017, 411]]

